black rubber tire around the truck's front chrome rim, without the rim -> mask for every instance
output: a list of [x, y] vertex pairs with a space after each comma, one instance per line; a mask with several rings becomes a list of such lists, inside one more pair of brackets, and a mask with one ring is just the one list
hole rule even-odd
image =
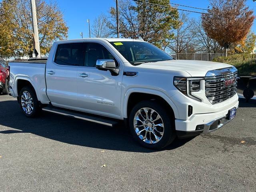
[[[152, 108], [155, 110], [162, 118], [163, 123], [164, 123], [164, 135], [162, 136], [161, 140], [155, 144], [148, 144], [144, 141], [142, 141], [136, 134], [134, 130], [134, 116], [138, 110], [141, 108]], [[130, 112], [129, 116], [129, 128], [130, 132], [133, 136], [133, 138], [139, 142], [142, 146], [146, 148], [151, 148], [151, 149], [161, 149], [167, 146], [173, 139], [175, 138], [175, 131], [174, 131], [174, 126], [172, 123], [172, 120], [168, 114], [168, 112], [157, 102], [148, 100], [148, 101], [142, 101], [139, 102], [134, 106], [132, 111]], [[171, 141], [170, 141], [171, 139]]]

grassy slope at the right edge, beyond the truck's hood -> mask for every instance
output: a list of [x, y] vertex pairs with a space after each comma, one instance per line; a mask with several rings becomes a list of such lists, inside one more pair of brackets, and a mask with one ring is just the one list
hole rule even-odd
[[255, 54], [233, 54], [227, 57], [217, 57], [212, 61], [235, 66], [240, 76], [256, 76]]

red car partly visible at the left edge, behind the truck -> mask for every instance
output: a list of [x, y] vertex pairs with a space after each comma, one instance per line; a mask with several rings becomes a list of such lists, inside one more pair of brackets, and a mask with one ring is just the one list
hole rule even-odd
[[8, 64], [0, 58], [0, 93], [9, 94], [9, 72]]

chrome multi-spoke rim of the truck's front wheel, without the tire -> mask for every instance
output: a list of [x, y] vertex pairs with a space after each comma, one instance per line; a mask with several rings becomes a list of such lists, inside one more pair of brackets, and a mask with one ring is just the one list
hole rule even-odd
[[134, 116], [134, 130], [142, 141], [154, 144], [164, 135], [164, 122], [155, 110], [142, 108]]

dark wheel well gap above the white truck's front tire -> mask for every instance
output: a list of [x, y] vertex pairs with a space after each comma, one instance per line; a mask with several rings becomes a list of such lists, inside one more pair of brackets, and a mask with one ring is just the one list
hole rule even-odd
[[170, 112], [170, 117], [172, 119], [175, 119], [174, 116], [174, 112], [172, 110], [172, 107], [168, 104], [168, 102], [166, 102], [166, 100], [164, 100], [162, 97], [158, 96], [158, 95], [154, 95], [154, 94], [147, 94], [147, 93], [132, 93], [129, 96], [128, 99], [128, 106], [127, 106], [127, 115], [129, 116], [132, 108], [141, 101], [145, 101], [145, 100], [155, 100], [156, 102], [158, 102], [162, 107], [164, 107], [166, 109], [167, 112]]

